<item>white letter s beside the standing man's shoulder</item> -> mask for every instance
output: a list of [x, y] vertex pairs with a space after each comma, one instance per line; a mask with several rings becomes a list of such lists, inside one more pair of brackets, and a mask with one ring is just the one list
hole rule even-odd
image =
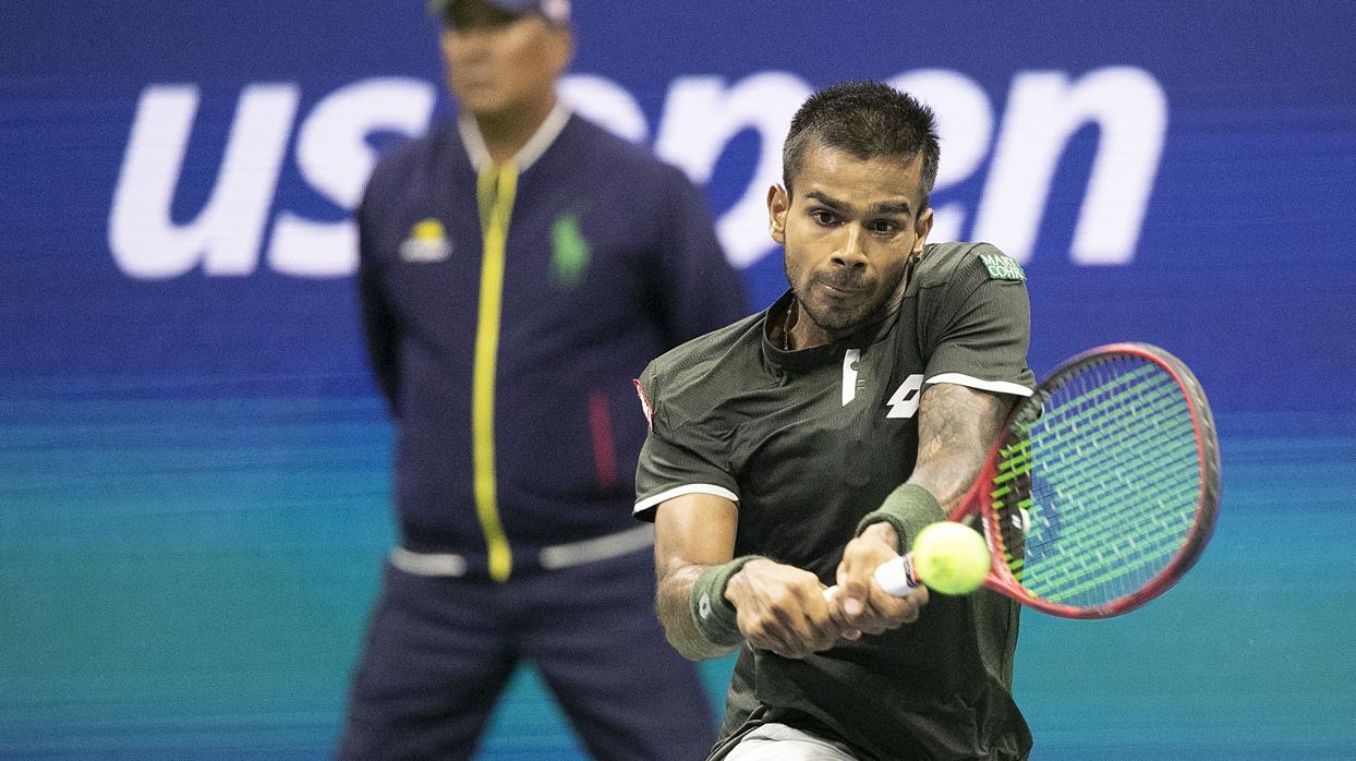
[[[301, 175], [348, 212], [377, 163], [365, 138], [377, 130], [416, 136], [428, 129], [437, 92], [416, 79], [369, 79], [343, 87], [316, 104], [297, 133]], [[358, 267], [358, 232], [351, 220], [311, 221], [281, 212], [268, 244], [274, 270], [298, 277], [338, 277]]]

